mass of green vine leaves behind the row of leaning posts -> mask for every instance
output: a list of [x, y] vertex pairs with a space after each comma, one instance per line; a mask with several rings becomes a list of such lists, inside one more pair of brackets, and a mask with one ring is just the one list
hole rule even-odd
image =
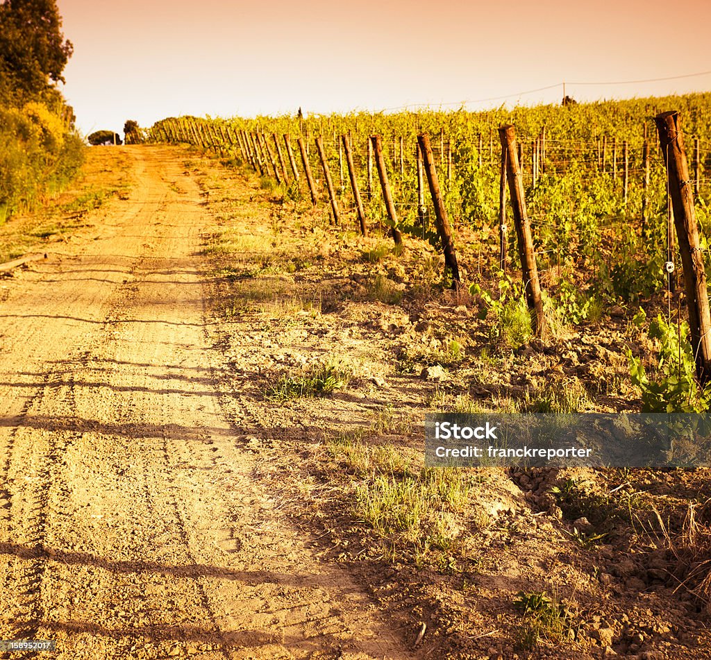
[[[665, 167], [653, 124], [653, 116], [659, 110], [680, 110], [687, 144], [693, 146], [690, 160], [693, 158], [696, 213], [701, 247], [707, 251], [711, 231], [708, 215], [711, 114], [707, 112], [710, 102], [711, 94], [694, 94], [475, 114], [432, 112], [228, 120], [183, 117], [160, 121], [152, 127], [150, 136], [154, 140], [200, 144], [225, 158], [240, 161], [247, 161], [249, 154], [245, 152], [254, 146], [246, 144], [247, 140], [259, 136], [257, 153], [262, 163], [255, 165], [255, 169], [261, 167], [264, 176], [278, 178], [285, 193], [292, 196], [309, 194], [303, 175], [301, 180], [295, 180], [290, 164], [291, 161], [303, 170], [297, 147], [301, 139], [319, 187], [317, 200], [328, 204], [324, 169], [315, 146], [318, 136], [338, 208], [355, 223], [355, 200], [341, 139], [346, 135], [365, 215], [382, 226], [388, 224], [387, 209], [369, 141], [369, 136], [378, 134], [398, 229], [436, 242], [433, 223], [428, 222], [434, 216], [429, 195], [423, 198], [421, 178], [418, 182], [417, 135], [427, 133], [449, 219], [455, 228], [466, 226], [474, 230], [485, 248], [477, 263], [481, 271], [482, 256], [484, 266], [498, 263], [501, 156], [498, 126], [513, 124], [539, 269], [570, 271], [572, 278], [562, 278], [569, 283], [562, 284], [565, 291], [560, 293], [564, 297], [574, 298], [584, 290], [587, 296], [612, 296], [636, 303], [668, 286], [665, 264], [669, 204]], [[242, 131], [250, 137], [242, 139]], [[290, 137], [290, 142], [284, 142], [284, 135]], [[423, 202], [427, 205], [425, 209]], [[510, 234], [509, 241], [513, 245]], [[509, 254], [513, 257], [511, 265], [515, 266], [515, 250]], [[580, 301], [577, 306], [583, 308], [584, 303]]]

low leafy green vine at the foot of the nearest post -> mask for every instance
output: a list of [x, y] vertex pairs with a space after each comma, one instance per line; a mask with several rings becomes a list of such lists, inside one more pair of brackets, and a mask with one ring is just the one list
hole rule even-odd
[[688, 334], [686, 322], [668, 323], [661, 314], [650, 323], [649, 337], [658, 346], [656, 381], [648, 377], [641, 359], [628, 351], [632, 382], [642, 391], [643, 412], [702, 413], [711, 406], [711, 384], [702, 387], [697, 382]]

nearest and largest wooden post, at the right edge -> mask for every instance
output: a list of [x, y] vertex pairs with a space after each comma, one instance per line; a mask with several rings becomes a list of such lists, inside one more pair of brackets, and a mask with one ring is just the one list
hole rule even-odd
[[679, 127], [679, 113], [676, 110], [663, 112], [658, 114], [654, 121], [667, 168], [668, 190], [674, 210], [696, 375], [701, 384], [706, 384], [711, 379], [711, 317], [704, 257], [700, 249], [694, 210], [693, 185], [689, 179], [683, 134]]

